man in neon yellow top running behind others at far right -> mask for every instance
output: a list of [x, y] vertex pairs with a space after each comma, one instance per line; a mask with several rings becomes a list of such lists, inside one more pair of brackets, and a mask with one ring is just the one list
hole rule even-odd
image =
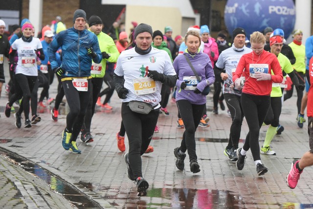
[[[302, 45], [302, 31], [297, 29], [293, 31], [292, 37], [293, 41], [289, 44], [289, 46], [292, 49], [292, 52], [295, 57], [295, 63], [292, 65], [294, 73], [297, 75], [299, 79], [300, 84], [304, 84], [304, 75], [305, 75], [305, 46]], [[293, 93], [293, 84], [291, 85], [291, 90], [287, 91], [284, 95], [284, 101], [291, 98]], [[297, 108], [298, 108], [298, 114], [300, 114], [301, 110], [301, 100], [303, 96], [303, 90], [297, 89]], [[298, 125], [299, 125], [299, 120], [303, 121], [303, 117], [297, 117], [298, 120]], [[301, 125], [301, 124], [300, 124]], [[303, 124], [302, 124], [303, 125]], [[300, 126], [299, 126], [300, 127]], [[300, 127], [302, 128], [302, 127]]]

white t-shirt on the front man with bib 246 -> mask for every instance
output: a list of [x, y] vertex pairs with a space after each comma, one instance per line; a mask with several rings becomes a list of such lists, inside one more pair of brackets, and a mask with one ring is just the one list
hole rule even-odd
[[124, 87], [129, 91], [127, 98], [122, 99], [122, 102], [135, 100], [149, 103], [152, 106], [158, 105], [161, 101], [162, 83], [152, 81], [147, 76], [148, 69], [165, 75], [176, 75], [171, 59], [164, 50], [152, 47], [148, 54], [140, 55], [135, 52], [134, 48], [131, 48], [121, 53], [117, 59], [114, 73], [124, 76]]

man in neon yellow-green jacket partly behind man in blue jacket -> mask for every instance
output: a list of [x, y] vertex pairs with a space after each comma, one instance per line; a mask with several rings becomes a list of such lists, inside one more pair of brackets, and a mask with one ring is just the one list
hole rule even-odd
[[97, 98], [101, 91], [103, 77], [106, 72], [107, 61], [115, 63], [119, 56], [119, 52], [114, 44], [113, 39], [109, 35], [102, 32], [102, 20], [98, 16], [93, 15], [89, 18], [89, 30], [96, 34], [98, 38], [102, 54], [102, 61], [100, 64], [92, 62], [91, 66], [91, 93], [85, 116], [85, 122], [81, 129], [80, 135], [80, 140], [85, 143], [90, 143], [93, 141], [93, 137], [90, 134], [91, 118], [94, 114]]

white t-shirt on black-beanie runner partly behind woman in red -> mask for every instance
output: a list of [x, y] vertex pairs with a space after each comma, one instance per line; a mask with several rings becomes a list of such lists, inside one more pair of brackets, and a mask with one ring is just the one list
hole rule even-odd
[[220, 69], [225, 69], [228, 75], [228, 78], [224, 81], [223, 93], [241, 95], [241, 91], [231, 85], [233, 83], [232, 77], [233, 73], [236, 71], [240, 58], [251, 51], [252, 49], [246, 46], [244, 46], [244, 50], [242, 51], [235, 51], [233, 46], [222, 51], [215, 65]]

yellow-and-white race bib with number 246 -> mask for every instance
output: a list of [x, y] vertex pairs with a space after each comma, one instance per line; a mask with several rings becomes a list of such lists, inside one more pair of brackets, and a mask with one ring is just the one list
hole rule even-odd
[[134, 79], [133, 82], [134, 82], [134, 91], [136, 95], [143, 95], [156, 92], [156, 82], [149, 77], [137, 78]]

